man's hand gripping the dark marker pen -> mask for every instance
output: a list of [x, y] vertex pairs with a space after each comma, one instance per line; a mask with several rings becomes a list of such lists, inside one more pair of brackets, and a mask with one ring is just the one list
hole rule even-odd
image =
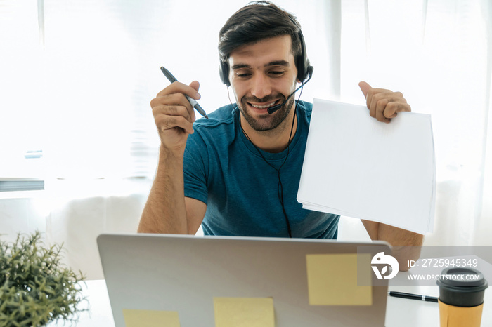
[[195, 121], [195, 111], [185, 94], [198, 100], [198, 88], [198, 81], [191, 82], [189, 86], [174, 82], [150, 101], [162, 147], [184, 151], [188, 134], [193, 133]]

